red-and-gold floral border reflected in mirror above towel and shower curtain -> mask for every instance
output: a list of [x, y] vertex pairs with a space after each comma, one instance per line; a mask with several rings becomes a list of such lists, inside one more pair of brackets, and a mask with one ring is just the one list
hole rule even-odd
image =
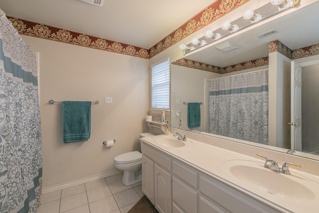
[[243, 63], [234, 64], [227, 67], [218, 67], [218, 66], [214, 66], [210, 64], [201, 63], [198, 61], [181, 58], [179, 60], [172, 62], [172, 64], [194, 68], [194, 69], [200, 69], [200, 70], [214, 72], [214, 73], [219, 73], [219, 74], [225, 74], [225, 73], [236, 72], [236, 71], [240, 71], [244, 69], [268, 65], [269, 61], [268, 61], [268, 57], [264, 57], [264, 58], [258, 58], [251, 61], [246, 61]]

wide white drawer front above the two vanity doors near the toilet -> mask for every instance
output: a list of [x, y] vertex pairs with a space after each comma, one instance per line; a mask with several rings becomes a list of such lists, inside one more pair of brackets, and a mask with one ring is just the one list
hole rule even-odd
[[167, 156], [160, 154], [158, 151], [154, 150], [154, 148], [149, 147], [148, 145], [141, 143], [142, 146], [142, 154], [148, 156], [150, 159], [157, 162], [160, 166], [171, 171], [171, 160]]

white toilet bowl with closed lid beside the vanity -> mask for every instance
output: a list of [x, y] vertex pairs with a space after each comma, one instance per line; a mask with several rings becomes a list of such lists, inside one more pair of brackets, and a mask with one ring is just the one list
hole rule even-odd
[[142, 181], [142, 153], [134, 151], [118, 155], [114, 158], [114, 166], [124, 171], [122, 182], [125, 186]]

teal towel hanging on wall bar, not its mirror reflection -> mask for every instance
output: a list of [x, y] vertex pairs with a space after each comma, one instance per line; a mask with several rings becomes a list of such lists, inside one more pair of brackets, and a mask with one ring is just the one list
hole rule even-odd
[[62, 101], [64, 143], [89, 140], [91, 105], [91, 101]]

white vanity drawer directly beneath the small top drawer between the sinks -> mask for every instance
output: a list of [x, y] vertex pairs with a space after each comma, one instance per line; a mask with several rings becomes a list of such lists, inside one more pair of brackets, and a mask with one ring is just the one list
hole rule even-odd
[[187, 213], [197, 213], [197, 192], [177, 178], [172, 181], [173, 201]]

